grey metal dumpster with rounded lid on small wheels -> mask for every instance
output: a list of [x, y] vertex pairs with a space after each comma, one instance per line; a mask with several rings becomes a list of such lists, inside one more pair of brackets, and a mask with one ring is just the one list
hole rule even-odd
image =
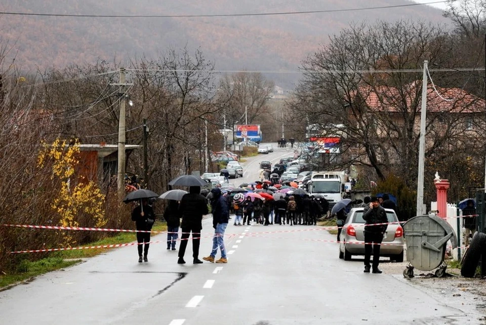
[[450, 240], [452, 248], [457, 247], [454, 229], [446, 220], [436, 215], [419, 215], [403, 224], [403, 234], [409, 261], [403, 270], [404, 277], [413, 277], [414, 268], [430, 271], [438, 267], [436, 276], [446, 274], [446, 244]]

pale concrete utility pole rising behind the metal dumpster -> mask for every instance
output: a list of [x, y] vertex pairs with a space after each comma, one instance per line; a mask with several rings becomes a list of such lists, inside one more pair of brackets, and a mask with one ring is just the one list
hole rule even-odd
[[420, 114], [420, 145], [419, 145], [419, 173], [417, 179], [417, 214], [422, 215], [424, 211], [424, 156], [425, 156], [425, 118], [427, 109], [427, 64], [424, 61], [424, 73], [422, 80], [422, 107]]

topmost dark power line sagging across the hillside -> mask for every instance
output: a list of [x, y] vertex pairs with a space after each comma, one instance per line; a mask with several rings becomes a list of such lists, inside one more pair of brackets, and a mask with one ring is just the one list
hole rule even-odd
[[413, 3], [407, 5], [394, 6], [376, 6], [368, 8], [350, 8], [350, 9], [329, 9], [329, 10], [311, 10], [311, 11], [286, 11], [274, 13], [247, 13], [247, 14], [211, 14], [211, 15], [72, 15], [72, 14], [41, 14], [41, 13], [22, 13], [22, 12], [0, 12], [2, 15], [17, 16], [41, 16], [41, 17], [74, 17], [74, 18], [215, 18], [215, 17], [249, 17], [249, 16], [285, 16], [285, 15], [302, 15], [302, 14], [326, 14], [340, 13], [350, 11], [365, 11], [378, 9], [393, 9], [404, 7], [426, 6], [433, 4], [446, 3], [448, 0], [433, 1], [429, 3]]

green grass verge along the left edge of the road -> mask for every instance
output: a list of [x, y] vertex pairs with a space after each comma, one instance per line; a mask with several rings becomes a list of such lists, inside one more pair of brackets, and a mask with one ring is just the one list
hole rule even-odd
[[[152, 227], [153, 231], [167, 230], [167, 224], [160, 221], [155, 221]], [[88, 243], [83, 246], [102, 246], [113, 244], [131, 243], [137, 239], [135, 233], [119, 233], [115, 236], [107, 237], [102, 240]], [[81, 246], [81, 245], [80, 245]], [[61, 252], [53, 252], [50, 257], [43, 258], [37, 261], [22, 260], [17, 265], [16, 271], [11, 274], [0, 275], [0, 288], [10, 287], [27, 280], [31, 280], [35, 276], [62, 269], [81, 262], [82, 258], [93, 257], [109, 250], [107, 248], [99, 249], [81, 249], [69, 250]]]

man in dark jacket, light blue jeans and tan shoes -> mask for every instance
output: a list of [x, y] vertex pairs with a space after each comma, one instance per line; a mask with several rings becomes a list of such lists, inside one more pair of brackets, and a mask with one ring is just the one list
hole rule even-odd
[[213, 213], [213, 250], [208, 257], [203, 257], [205, 261], [214, 263], [216, 253], [218, 252], [218, 247], [221, 250], [221, 258], [216, 261], [216, 263], [227, 263], [226, 250], [224, 249], [224, 230], [228, 225], [229, 220], [229, 209], [226, 199], [223, 197], [221, 190], [219, 188], [211, 190], [213, 193], [213, 200], [211, 201], [211, 212]]

